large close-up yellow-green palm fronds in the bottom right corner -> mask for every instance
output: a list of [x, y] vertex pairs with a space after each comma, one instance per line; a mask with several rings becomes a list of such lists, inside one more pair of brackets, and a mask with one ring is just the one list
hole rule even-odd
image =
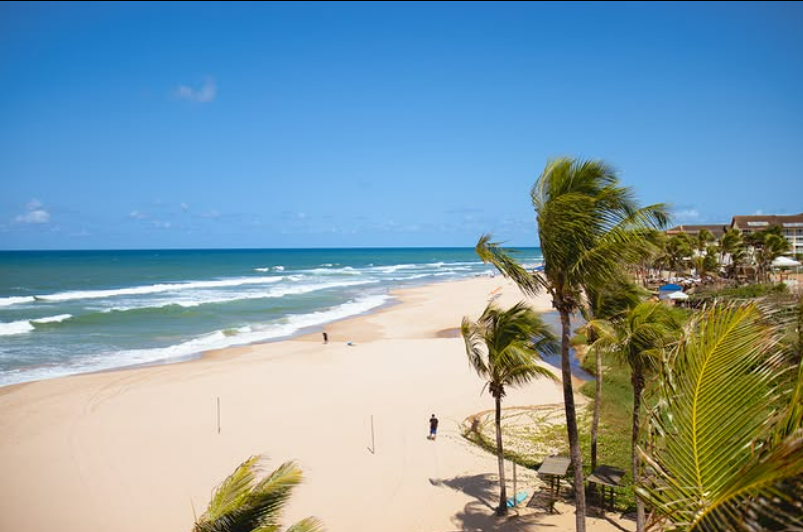
[[803, 366], [771, 323], [752, 304], [705, 309], [664, 365], [639, 488], [663, 530], [803, 526]]

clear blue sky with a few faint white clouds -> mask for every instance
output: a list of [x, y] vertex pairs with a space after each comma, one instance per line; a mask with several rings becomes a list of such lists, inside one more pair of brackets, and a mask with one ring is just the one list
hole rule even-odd
[[803, 212], [803, 4], [0, 4], [0, 249], [537, 244], [549, 157]]

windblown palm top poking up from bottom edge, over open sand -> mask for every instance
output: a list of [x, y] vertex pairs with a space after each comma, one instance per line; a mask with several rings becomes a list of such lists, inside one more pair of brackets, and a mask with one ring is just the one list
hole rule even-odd
[[[193, 532], [269, 532], [277, 531], [281, 515], [293, 489], [301, 483], [301, 470], [286, 462], [262, 480], [258, 462], [252, 456], [215, 489], [206, 512], [196, 519]], [[321, 532], [314, 517], [292, 525], [287, 532]]]

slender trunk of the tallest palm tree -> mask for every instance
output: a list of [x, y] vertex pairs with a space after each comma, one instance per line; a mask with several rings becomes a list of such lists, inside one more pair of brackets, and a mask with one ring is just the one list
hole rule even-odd
[[569, 434], [569, 452], [574, 469], [574, 497], [575, 497], [575, 530], [586, 530], [586, 492], [583, 481], [583, 457], [580, 455], [580, 439], [577, 434], [577, 412], [574, 408], [574, 390], [572, 389], [572, 370], [569, 360], [569, 334], [571, 322], [569, 312], [559, 307], [561, 341], [560, 341], [560, 369], [563, 379], [563, 402], [566, 407], [566, 432]]

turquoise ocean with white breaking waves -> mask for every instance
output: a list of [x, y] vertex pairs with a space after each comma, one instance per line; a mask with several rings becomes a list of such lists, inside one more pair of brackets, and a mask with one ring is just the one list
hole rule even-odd
[[0, 386], [288, 338], [491, 270], [471, 248], [0, 251]]

